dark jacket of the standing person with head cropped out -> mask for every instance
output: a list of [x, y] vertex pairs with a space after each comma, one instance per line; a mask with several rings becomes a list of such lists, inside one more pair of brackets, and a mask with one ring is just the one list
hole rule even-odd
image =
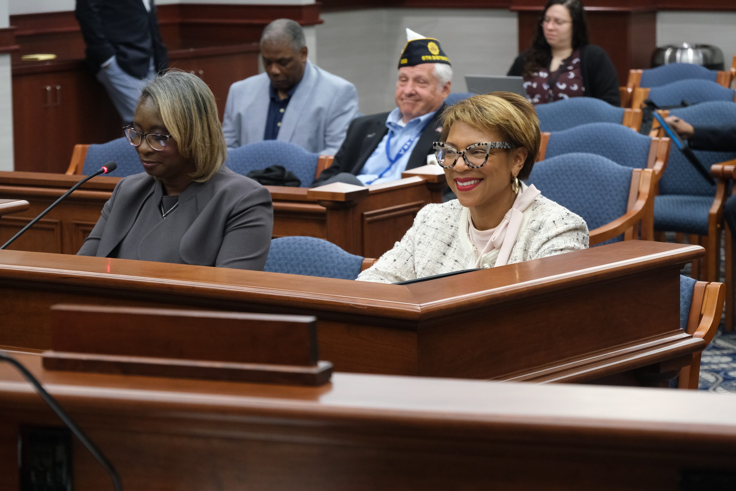
[[74, 15], [87, 44], [87, 63], [93, 74], [113, 55], [120, 68], [139, 79], [148, 74], [151, 56], [156, 71], [169, 65], [153, 0], [151, 12], [143, 0], [77, 0]]

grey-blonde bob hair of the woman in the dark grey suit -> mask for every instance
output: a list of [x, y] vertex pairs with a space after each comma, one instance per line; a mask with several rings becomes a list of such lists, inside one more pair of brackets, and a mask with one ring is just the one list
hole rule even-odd
[[180, 155], [194, 161], [196, 170], [189, 177], [198, 183], [209, 180], [227, 158], [227, 145], [207, 84], [186, 71], [169, 70], [144, 87], [140, 101], [146, 97], [158, 107]]

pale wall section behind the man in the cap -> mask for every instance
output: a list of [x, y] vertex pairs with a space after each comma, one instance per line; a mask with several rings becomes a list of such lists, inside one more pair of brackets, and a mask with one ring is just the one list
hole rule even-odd
[[453, 92], [464, 74], [505, 75], [517, 54], [517, 16], [492, 9], [367, 9], [322, 13], [319, 66], [358, 88], [364, 114], [392, 110], [408, 27], [437, 38], [453, 63]]

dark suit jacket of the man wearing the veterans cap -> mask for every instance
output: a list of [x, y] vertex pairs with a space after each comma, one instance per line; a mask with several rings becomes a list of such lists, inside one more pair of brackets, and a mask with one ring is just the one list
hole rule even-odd
[[[437, 131], [437, 128], [442, 126], [439, 123], [439, 115], [442, 114], [443, 110], [445, 110], [444, 104], [434, 113], [424, 131], [422, 131], [417, 145], [411, 151], [406, 169], [426, 165], [427, 155], [432, 152], [432, 142], [439, 140], [439, 134], [442, 132], [441, 129]], [[386, 118], [388, 117], [389, 113], [378, 113], [353, 119], [350, 126], [347, 127], [345, 141], [342, 142], [342, 146], [337, 151], [332, 165], [322, 171], [322, 174], [319, 174], [312, 186], [319, 186], [319, 183], [340, 172], [360, 174], [366, 160], [381, 143], [386, 133], [389, 133], [389, 128], [386, 127]]]

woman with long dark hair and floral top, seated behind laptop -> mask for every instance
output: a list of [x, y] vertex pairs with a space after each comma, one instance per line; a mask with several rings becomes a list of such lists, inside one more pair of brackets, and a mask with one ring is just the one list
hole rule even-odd
[[595, 97], [620, 105], [618, 75], [608, 54], [588, 42], [580, 0], [549, 0], [531, 49], [520, 54], [509, 76], [524, 77], [532, 104]]

